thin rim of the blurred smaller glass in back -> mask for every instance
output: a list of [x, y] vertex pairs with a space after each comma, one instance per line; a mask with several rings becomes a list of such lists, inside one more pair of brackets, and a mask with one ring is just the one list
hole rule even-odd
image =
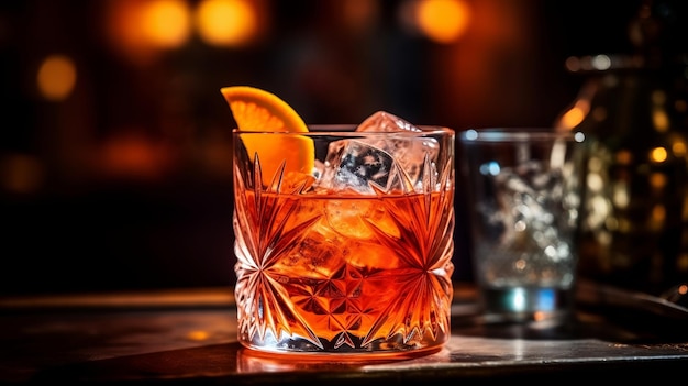
[[528, 142], [566, 140], [584, 142], [585, 134], [579, 131], [556, 131], [552, 128], [484, 128], [468, 129], [458, 133], [464, 143], [474, 142]]

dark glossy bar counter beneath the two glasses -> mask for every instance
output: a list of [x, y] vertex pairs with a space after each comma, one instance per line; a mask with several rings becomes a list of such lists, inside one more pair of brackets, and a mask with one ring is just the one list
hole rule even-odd
[[[580, 286], [564, 326], [487, 323], [470, 284], [455, 285], [452, 337], [395, 361], [267, 359], [236, 341], [230, 288], [0, 297], [0, 384], [260, 385], [614, 384], [688, 371], [688, 312]], [[640, 378], [642, 377], [642, 378]]]

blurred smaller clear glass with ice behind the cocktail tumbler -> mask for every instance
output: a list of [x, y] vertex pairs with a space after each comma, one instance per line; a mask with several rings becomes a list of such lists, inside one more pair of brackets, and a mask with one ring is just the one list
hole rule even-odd
[[488, 320], [563, 322], [573, 312], [580, 133], [484, 129], [459, 134], [471, 256]]

